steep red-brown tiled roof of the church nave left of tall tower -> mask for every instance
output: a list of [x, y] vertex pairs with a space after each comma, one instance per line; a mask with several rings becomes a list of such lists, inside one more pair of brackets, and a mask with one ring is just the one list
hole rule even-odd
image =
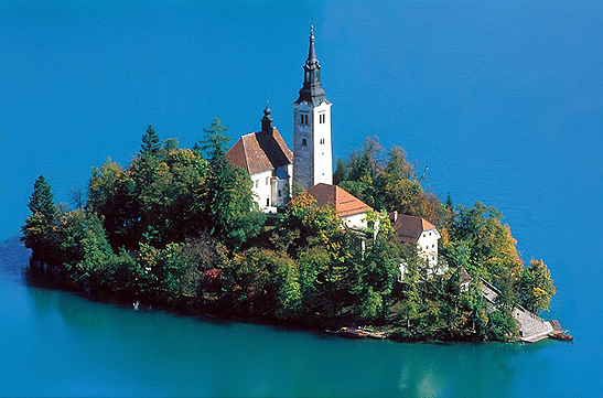
[[273, 128], [272, 135], [258, 131], [241, 136], [226, 152], [226, 160], [256, 174], [293, 163], [293, 152]]

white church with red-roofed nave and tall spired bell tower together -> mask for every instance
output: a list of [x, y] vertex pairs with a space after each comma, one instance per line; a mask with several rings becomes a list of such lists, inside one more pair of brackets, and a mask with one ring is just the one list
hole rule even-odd
[[227, 161], [247, 170], [256, 201], [267, 213], [277, 212], [291, 200], [293, 184], [304, 190], [321, 183], [333, 184], [332, 104], [321, 83], [313, 26], [303, 71], [303, 85], [293, 103], [293, 152], [273, 126], [267, 104], [261, 130], [241, 136], [226, 153]]

